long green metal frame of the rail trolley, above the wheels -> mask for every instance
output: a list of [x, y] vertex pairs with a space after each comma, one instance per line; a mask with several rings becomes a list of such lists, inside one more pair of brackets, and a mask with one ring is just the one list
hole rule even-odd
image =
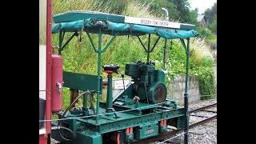
[[[160, 106], [159, 106], [160, 107]], [[103, 110], [103, 109], [102, 109]], [[159, 108], [159, 110], [161, 110]], [[101, 121], [99, 123], [94, 123], [91, 120], [88, 120], [86, 118], [75, 118], [70, 119], [70, 123], [76, 123], [76, 127], [86, 127], [87, 130], [94, 130], [90, 131], [91, 133], [100, 133], [105, 134], [112, 131], [117, 130], [124, 130], [129, 127], [135, 127], [140, 126], [142, 124], [148, 123], [148, 122], [159, 122], [161, 120], [170, 119], [170, 118], [182, 118], [183, 115], [183, 108], [177, 108], [174, 110], [161, 110], [157, 113], [150, 113], [150, 114], [128, 114], [128, 113], [119, 113], [117, 112], [119, 116], [123, 117], [125, 114], [127, 114], [126, 117], [123, 117], [122, 119], [115, 119], [110, 118], [108, 116], [102, 116], [105, 119], [105, 122]], [[130, 117], [132, 115], [132, 117]], [[74, 115], [69, 114], [65, 118], [72, 118]], [[129, 117], [129, 118], [128, 118]], [[72, 130], [75, 130], [74, 126], [70, 126]]]

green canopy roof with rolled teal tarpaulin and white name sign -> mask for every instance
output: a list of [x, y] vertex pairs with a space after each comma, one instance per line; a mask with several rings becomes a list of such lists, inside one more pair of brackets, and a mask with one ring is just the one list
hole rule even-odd
[[[111, 21], [110, 21], [111, 20]], [[79, 32], [114, 35], [156, 34], [162, 38], [190, 38], [197, 36], [194, 25], [165, 22], [146, 18], [132, 18], [116, 14], [72, 11], [54, 16], [52, 33]]]

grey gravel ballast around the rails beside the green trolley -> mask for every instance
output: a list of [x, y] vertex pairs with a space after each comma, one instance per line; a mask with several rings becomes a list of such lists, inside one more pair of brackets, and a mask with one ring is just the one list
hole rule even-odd
[[[216, 99], [211, 99], [211, 100], [204, 100], [204, 101], [199, 101], [199, 102], [193, 102], [190, 103], [190, 110], [196, 109], [202, 106], [207, 106], [210, 104], [214, 104], [217, 102]], [[217, 107], [212, 107], [207, 110], [215, 110], [217, 111]], [[203, 115], [203, 116], [213, 116], [214, 113], [210, 112], [205, 112], [205, 111], [200, 111], [198, 113], [195, 113], [198, 115]], [[190, 116], [190, 123], [198, 122], [202, 120], [202, 117], [195, 117], [195, 116]], [[211, 122], [207, 122], [203, 125], [195, 126], [194, 128], [189, 130], [189, 143], [190, 144], [210, 144], [210, 143], [217, 143], [217, 119], [214, 119]], [[181, 133], [182, 134], [182, 133]], [[55, 144], [56, 141], [52, 139], [51, 144]], [[150, 144], [157, 144], [159, 142], [150, 142]], [[161, 142], [161, 144], [170, 144], [170, 143], [175, 143], [175, 144], [183, 144], [184, 143], [184, 134], [177, 138], [173, 138], [168, 142]]]

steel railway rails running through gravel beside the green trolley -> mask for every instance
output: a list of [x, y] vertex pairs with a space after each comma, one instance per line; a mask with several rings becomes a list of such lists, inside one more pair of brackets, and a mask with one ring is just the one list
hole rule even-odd
[[[199, 125], [202, 125], [206, 122], [210, 122], [210, 121], [214, 120], [215, 118], [217, 118], [217, 111], [215, 111], [215, 110], [206, 110], [206, 109], [210, 109], [214, 106], [217, 106], [217, 102], [214, 103], [214, 104], [208, 105], [208, 106], [202, 106], [200, 108], [190, 110], [189, 111], [190, 117], [191, 116], [196, 116], [196, 117], [204, 117], [204, 118], [199, 122], [191, 123], [189, 127], [192, 128], [194, 126], [199, 126]], [[194, 113], [197, 113], [197, 112], [200, 112], [200, 111], [216, 113], [216, 114], [214, 114], [214, 116], [210, 116], [210, 117], [194, 114]], [[147, 138], [147, 139], [144, 139], [142, 141], [133, 142], [133, 143], [134, 144], [148, 144], [150, 142], [162, 142], [162, 141], [165, 141], [166, 139], [174, 137], [175, 134], [181, 133], [182, 131], [183, 131], [183, 129], [171, 130], [170, 132], [167, 132], [165, 134], [158, 135], [158, 137]], [[176, 143], [176, 142], [174, 142], [174, 143]]]

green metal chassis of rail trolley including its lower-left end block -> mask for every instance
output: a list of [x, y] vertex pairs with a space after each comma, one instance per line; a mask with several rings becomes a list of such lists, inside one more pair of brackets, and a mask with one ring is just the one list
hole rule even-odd
[[[169, 100], [166, 100], [166, 102]], [[118, 112], [116, 111], [116, 115], [118, 118], [115, 118], [114, 113], [106, 114], [106, 109], [104, 108], [106, 103], [101, 103], [101, 107], [99, 109], [100, 116], [98, 117], [98, 123], [95, 121], [95, 117], [82, 117], [82, 113], [80, 114], [67, 114], [65, 118], [70, 118], [65, 120], [66, 124], [68, 124], [68, 128], [73, 130], [77, 135], [77, 138], [73, 141], [63, 141], [60, 138], [58, 131], [54, 130], [52, 132], [52, 137], [63, 143], [102, 143], [102, 135], [110, 132], [116, 131], [124, 131], [126, 128], [136, 127], [136, 126], [144, 126], [146, 124], [150, 124], [151, 122], [159, 123], [162, 120], [177, 118], [177, 128], [182, 128], [184, 123], [184, 108], [168, 108], [161, 105], [148, 105], [142, 104], [138, 107], [137, 110], [132, 109], [133, 106], [130, 107], [130, 113], [128, 112]], [[147, 107], [146, 107], [147, 106]], [[114, 107], [118, 107], [114, 105]], [[154, 112], [149, 114], [142, 114], [142, 110], [154, 110]], [[123, 111], [122, 107], [119, 107], [120, 111]], [[62, 114], [59, 113], [59, 114]], [[82, 117], [82, 118], [79, 118]], [[53, 126], [57, 126], [57, 123], [53, 123]], [[161, 132], [159, 131], [158, 134]], [[134, 139], [134, 141], [139, 141], [141, 139]], [[124, 139], [122, 139], [123, 143], [126, 143]]]

